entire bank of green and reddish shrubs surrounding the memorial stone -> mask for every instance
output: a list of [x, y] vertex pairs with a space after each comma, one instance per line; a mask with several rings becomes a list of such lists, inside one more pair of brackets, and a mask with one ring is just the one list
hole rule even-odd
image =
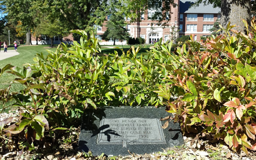
[[[93, 33], [87, 40], [86, 32], [74, 31], [82, 36], [80, 44], [62, 44], [47, 57], [37, 54], [36, 64], [24, 68], [2, 69], [18, 76], [15, 82], [26, 89], [0, 90], [1, 100], [14, 98], [14, 106], [24, 109], [12, 126], [5, 125], [9, 120], [0, 122], [1, 140], [19, 133], [19, 143], [32, 149], [36, 141], [26, 137], [41, 140], [47, 129], [53, 133], [80, 124], [76, 122], [89, 109], [165, 105], [183, 132], [204, 132], [246, 153], [256, 150], [256, 23], [251, 29], [245, 25], [248, 35], [228, 25], [222, 28], [224, 35], [202, 44], [188, 40], [175, 53], [172, 42], [160, 39], [146, 54], [131, 47], [120, 57], [116, 51], [101, 55]], [[24, 130], [31, 134], [25, 137]]]

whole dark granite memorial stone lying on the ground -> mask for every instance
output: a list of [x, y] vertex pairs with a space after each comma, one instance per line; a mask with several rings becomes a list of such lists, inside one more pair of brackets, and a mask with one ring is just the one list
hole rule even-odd
[[[85, 114], [79, 136], [79, 149], [94, 156], [145, 154], [184, 144], [179, 124], [164, 122], [169, 116], [163, 107], [104, 107]], [[129, 152], [128, 152], [129, 150]]]

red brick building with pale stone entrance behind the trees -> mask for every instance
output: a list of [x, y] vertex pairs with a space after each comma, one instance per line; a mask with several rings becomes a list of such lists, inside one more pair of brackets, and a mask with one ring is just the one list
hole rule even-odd
[[[181, 35], [190, 35], [194, 34], [195, 40], [199, 41], [200, 36], [207, 36], [211, 33], [209, 30], [213, 27], [214, 22], [220, 18], [220, 8], [214, 8], [212, 4], [203, 5], [200, 4], [197, 7], [191, 7], [191, 3], [196, 0], [174, 0], [177, 4], [176, 7], [171, 7], [171, 15], [165, 17], [167, 27], [162, 28], [154, 24], [151, 26], [152, 20], [151, 16], [154, 15], [154, 10], [148, 9], [145, 14], [141, 15], [141, 21], [136, 23], [130, 23], [129, 18], [127, 21], [127, 29], [131, 37], [142, 37], [146, 40], [146, 43], [151, 43], [152, 40], [158, 41], [160, 38], [163, 41], [170, 39], [170, 32], [173, 30], [175, 32], [175, 37]], [[106, 22], [109, 19], [109, 16], [106, 17], [106, 21], [102, 27], [96, 26], [96, 37], [100, 39], [101, 45], [112, 45], [113, 41], [104, 41], [101, 39], [101, 35], [106, 31]], [[168, 21], [167, 21], [168, 20]], [[48, 40], [48, 41], [47, 41]], [[59, 44], [60, 39], [58, 37], [54, 38], [54, 43]], [[71, 35], [64, 37], [64, 42], [72, 43], [73, 38]], [[39, 41], [39, 44], [48, 44], [50, 43], [49, 39]], [[32, 44], [35, 44], [35, 41], [32, 38]], [[126, 44], [126, 41], [116, 41], [116, 45]]]

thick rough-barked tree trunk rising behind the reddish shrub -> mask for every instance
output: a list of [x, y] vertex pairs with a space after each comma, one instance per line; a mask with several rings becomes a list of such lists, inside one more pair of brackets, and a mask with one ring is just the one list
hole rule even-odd
[[[242, 19], [251, 21], [251, 0], [222, 0], [221, 6], [221, 25], [226, 28], [236, 25], [233, 29], [245, 33], [245, 26]], [[249, 23], [250, 24], [250, 23]]]

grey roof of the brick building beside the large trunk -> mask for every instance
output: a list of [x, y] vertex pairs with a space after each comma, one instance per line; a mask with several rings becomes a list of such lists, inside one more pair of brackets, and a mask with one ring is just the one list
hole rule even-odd
[[213, 7], [213, 4], [191, 6], [196, 0], [180, 0], [180, 13], [221, 13], [221, 8]]

